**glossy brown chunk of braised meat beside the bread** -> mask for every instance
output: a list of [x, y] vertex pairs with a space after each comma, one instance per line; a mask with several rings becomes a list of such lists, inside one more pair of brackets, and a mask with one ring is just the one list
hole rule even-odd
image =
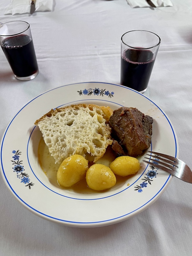
[[150, 147], [153, 118], [137, 108], [118, 108], [109, 119], [117, 155], [138, 156]]

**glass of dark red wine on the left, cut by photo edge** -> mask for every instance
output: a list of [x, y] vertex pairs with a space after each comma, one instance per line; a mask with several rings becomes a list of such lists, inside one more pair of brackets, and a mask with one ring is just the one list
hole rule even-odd
[[1, 48], [19, 80], [31, 80], [39, 72], [30, 26], [25, 21], [0, 25]]

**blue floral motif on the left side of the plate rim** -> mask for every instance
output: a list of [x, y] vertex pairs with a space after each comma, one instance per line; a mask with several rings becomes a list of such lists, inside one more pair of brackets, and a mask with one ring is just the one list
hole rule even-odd
[[13, 150], [12, 153], [14, 156], [12, 156], [13, 160], [11, 160], [12, 164], [14, 164], [14, 167], [12, 167], [13, 172], [17, 173], [17, 178], [21, 180], [21, 183], [27, 184], [25, 187], [28, 187], [31, 189], [31, 187], [34, 185], [34, 183], [30, 182], [29, 175], [25, 171], [23, 164], [23, 161], [20, 160], [21, 152], [19, 150]]

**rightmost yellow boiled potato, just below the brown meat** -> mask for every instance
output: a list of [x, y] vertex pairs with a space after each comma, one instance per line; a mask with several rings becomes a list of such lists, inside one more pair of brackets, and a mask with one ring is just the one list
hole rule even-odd
[[110, 164], [110, 169], [116, 175], [125, 177], [138, 172], [140, 162], [132, 156], [119, 156]]

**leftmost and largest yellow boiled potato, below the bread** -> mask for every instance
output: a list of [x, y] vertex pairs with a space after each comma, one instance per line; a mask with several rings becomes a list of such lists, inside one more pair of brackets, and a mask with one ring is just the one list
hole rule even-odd
[[80, 155], [67, 157], [57, 171], [57, 181], [63, 187], [72, 187], [85, 177], [88, 161]]

